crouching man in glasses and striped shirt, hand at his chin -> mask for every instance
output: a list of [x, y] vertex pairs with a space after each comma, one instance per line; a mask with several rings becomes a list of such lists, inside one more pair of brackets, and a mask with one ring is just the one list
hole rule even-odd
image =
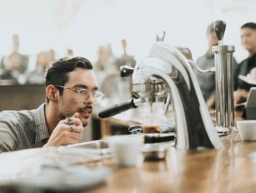
[[104, 97], [92, 69], [84, 57], [55, 61], [45, 76], [44, 104], [0, 112], [0, 152], [78, 143], [93, 105]]

